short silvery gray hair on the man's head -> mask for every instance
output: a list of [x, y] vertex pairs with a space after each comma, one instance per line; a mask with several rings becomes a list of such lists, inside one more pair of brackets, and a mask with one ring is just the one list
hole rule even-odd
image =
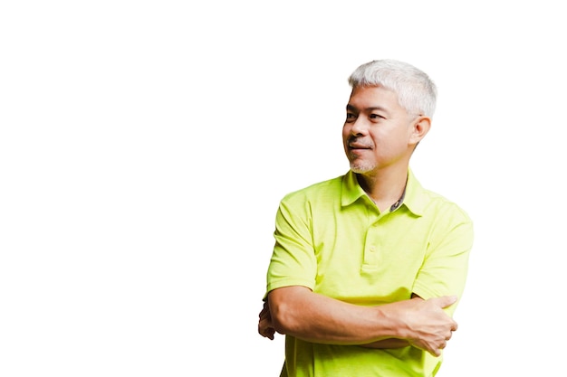
[[398, 94], [399, 105], [408, 113], [433, 117], [437, 88], [428, 75], [403, 61], [370, 61], [349, 77], [352, 89], [381, 86]]

